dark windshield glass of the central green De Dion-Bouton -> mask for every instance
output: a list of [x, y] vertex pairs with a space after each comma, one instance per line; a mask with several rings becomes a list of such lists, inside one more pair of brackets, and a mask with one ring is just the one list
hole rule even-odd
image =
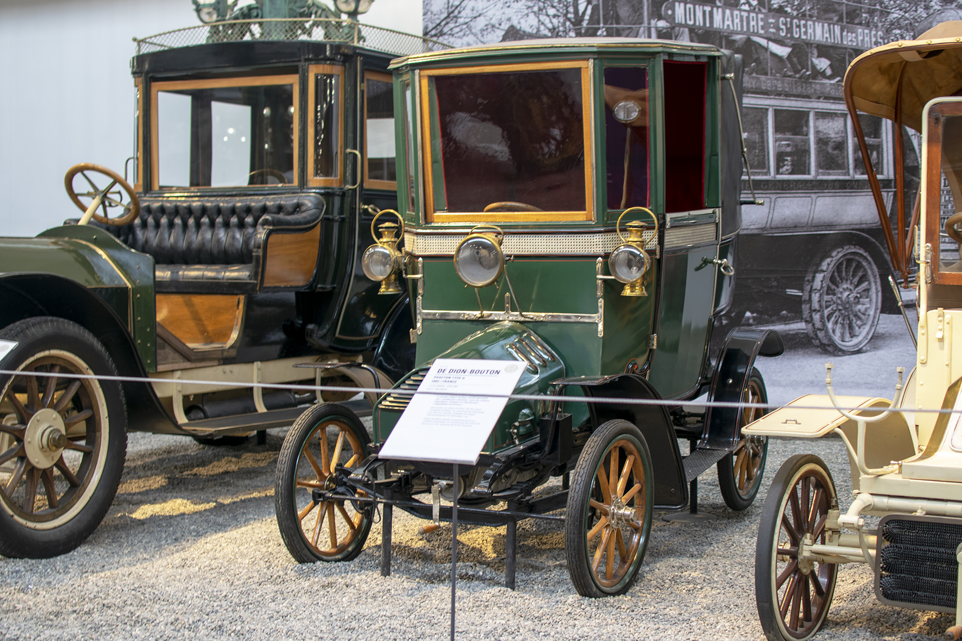
[[591, 218], [587, 65], [575, 64], [427, 79], [428, 220]]

